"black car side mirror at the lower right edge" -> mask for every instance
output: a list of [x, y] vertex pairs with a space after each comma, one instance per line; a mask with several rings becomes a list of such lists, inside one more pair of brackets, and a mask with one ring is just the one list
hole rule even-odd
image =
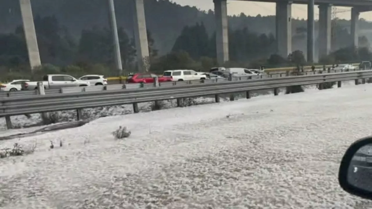
[[339, 184], [350, 194], [372, 200], [372, 136], [347, 148], [340, 164]]

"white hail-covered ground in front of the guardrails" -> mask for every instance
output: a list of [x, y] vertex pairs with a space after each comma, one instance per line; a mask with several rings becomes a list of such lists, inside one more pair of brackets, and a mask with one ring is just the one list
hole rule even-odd
[[[0, 142], [2, 209], [367, 209], [337, 182], [370, 135], [372, 85], [112, 116]], [[128, 126], [132, 135], [114, 140]], [[50, 141], [63, 146], [50, 149]]]

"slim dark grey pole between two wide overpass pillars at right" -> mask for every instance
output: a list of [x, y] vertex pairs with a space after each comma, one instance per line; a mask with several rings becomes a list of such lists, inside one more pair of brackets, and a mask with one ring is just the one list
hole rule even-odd
[[314, 62], [314, 0], [307, 4], [307, 61]]

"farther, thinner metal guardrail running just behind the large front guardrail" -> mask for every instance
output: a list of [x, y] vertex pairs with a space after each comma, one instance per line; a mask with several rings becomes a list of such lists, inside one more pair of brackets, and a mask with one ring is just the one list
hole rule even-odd
[[[323, 74], [328, 71], [306, 71], [303, 72], [305, 75], [311, 74]], [[342, 72], [341, 70], [331, 70], [329, 73]], [[293, 76], [293, 75], [289, 75]], [[253, 75], [253, 76], [241, 76], [241, 77], [232, 77], [232, 81], [236, 80], [249, 80], [249, 79], [264, 79], [264, 78], [280, 78], [286, 77], [286, 74], [262, 74], [262, 75]], [[212, 83], [222, 83], [230, 82], [227, 78], [217, 78], [217, 79], [205, 79], [205, 80], [189, 80], [189, 81], [171, 81], [159, 83], [161, 87], [178, 87], [178, 86], [192, 86], [195, 84], [212, 84]], [[46, 89], [45, 94], [58, 94], [58, 93], [76, 93], [84, 91], [104, 91], [104, 90], [119, 90], [119, 89], [141, 89], [141, 88], [155, 88], [153, 83], [145, 83], [141, 86], [140, 83], [133, 84], [112, 84], [107, 86], [88, 86], [88, 87], [64, 87], [61, 89]], [[7, 91], [0, 92], [0, 97], [22, 97], [22, 96], [31, 96], [38, 95], [37, 90], [24, 90], [24, 91]]]

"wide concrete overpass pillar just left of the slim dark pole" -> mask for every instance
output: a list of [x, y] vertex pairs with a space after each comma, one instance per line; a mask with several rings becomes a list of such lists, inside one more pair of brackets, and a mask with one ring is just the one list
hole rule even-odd
[[292, 52], [292, 3], [277, 1], [275, 19], [277, 53], [287, 58]]

